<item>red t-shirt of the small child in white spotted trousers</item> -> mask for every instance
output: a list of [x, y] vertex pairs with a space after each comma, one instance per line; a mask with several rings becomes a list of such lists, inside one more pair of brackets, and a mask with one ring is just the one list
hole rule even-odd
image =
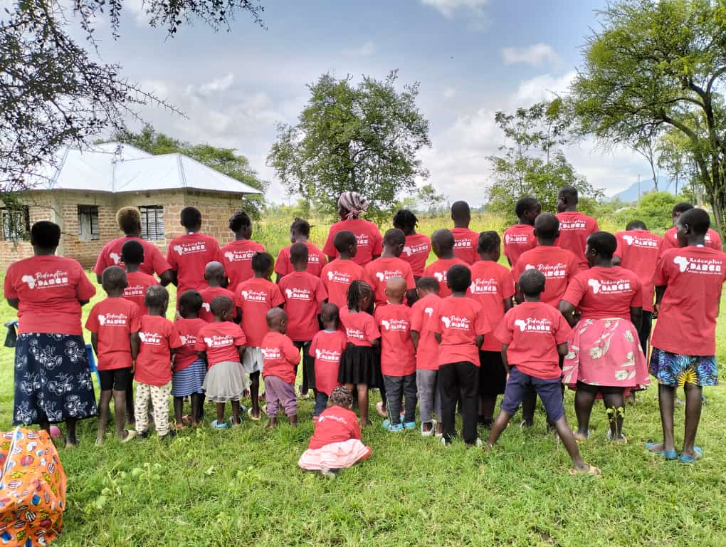
[[139, 338], [134, 379], [150, 386], [166, 386], [171, 381], [171, 350], [183, 345], [174, 323], [160, 315], [142, 315]]

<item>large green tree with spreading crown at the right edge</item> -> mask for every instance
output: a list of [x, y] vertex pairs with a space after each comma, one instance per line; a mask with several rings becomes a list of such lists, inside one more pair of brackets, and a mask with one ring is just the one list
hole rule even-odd
[[679, 131], [726, 235], [726, 4], [620, 0], [600, 18], [571, 86], [579, 130], [626, 145]]

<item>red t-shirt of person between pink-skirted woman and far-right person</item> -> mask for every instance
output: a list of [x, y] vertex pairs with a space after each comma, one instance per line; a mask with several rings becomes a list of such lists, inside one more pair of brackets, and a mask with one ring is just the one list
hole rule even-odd
[[627, 230], [615, 235], [618, 248], [615, 254], [620, 257], [620, 265], [636, 273], [643, 288], [643, 309], [653, 311], [653, 273], [656, 272], [658, 256], [661, 254], [663, 238], [647, 230]]

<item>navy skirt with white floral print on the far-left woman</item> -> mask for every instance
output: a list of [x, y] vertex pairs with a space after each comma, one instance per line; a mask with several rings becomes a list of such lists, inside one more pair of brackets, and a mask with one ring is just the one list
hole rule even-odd
[[83, 337], [25, 333], [15, 345], [12, 423], [27, 426], [96, 416], [96, 397]]

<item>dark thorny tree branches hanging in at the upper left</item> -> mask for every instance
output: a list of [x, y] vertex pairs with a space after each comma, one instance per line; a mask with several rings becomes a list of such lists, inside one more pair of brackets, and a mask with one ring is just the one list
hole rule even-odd
[[[83, 146], [101, 131], [123, 131], [129, 118], [138, 118], [139, 105], [179, 113], [129, 82], [120, 66], [94, 60], [94, 21], [106, 17], [118, 39], [122, 9], [123, 0], [28, 0], [0, 15], [1, 192], [25, 189], [27, 175], [52, 162], [61, 145]], [[195, 20], [229, 29], [237, 12], [261, 24], [263, 11], [250, 0], [146, 0], [143, 9], [149, 25], [167, 36]], [[71, 37], [75, 26], [85, 46]]]

